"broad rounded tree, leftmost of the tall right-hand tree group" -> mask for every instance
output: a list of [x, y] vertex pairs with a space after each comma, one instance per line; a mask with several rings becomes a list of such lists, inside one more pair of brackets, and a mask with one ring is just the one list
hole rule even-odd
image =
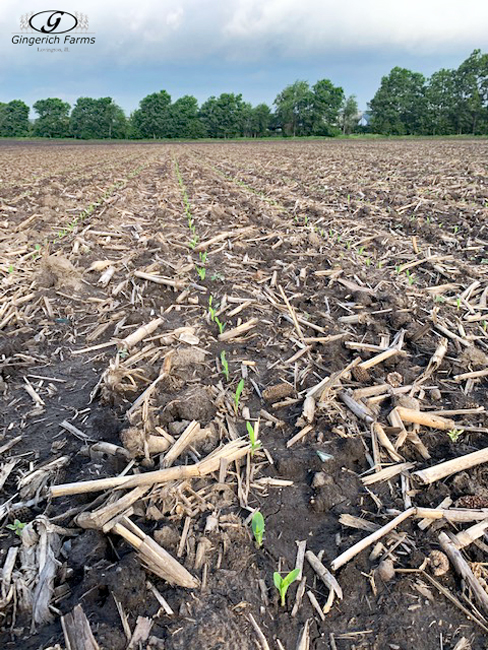
[[426, 121], [425, 78], [419, 72], [393, 68], [369, 103], [374, 133], [422, 133]]

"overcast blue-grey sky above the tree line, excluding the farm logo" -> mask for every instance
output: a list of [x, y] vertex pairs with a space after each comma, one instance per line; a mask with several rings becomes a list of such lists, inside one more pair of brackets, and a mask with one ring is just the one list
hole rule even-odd
[[[241, 92], [272, 103], [296, 79], [331, 79], [365, 109], [399, 65], [430, 75], [488, 51], [487, 0], [0, 1], [0, 101], [111, 96], [127, 112], [145, 95], [202, 102]], [[94, 45], [39, 52], [13, 45], [20, 15], [88, 16]], [[64, 38], [60, 37], [61, 40]], [[39, 46], [41, 47], [41, 46]], [[46, 46], [44, 46], [46, 47]], [[48, 47], [48, 46], [47, 46]], [[53, 46], [60, 47], [60, 46]]]

